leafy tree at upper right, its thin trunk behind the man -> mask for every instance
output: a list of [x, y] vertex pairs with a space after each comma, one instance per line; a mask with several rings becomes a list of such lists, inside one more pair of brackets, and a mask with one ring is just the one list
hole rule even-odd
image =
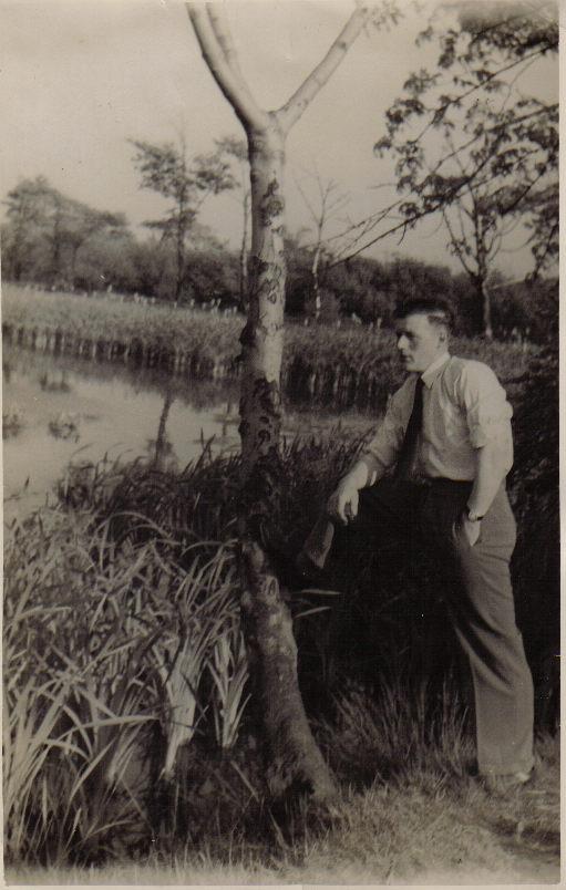
[[557, 250], [558, 106], [526, 95], [523, 75], [557, 52], [558, 23], [552, 3], [455, 9], [454, 27], [443, 8], [441, 29], [421, 34], [436, 41], [438, 69], [409, 77], [375, 147], [395, 158], [405, 217], [441, 213], [492, 337], [488, 277], [506, 236], [528, 227], [537, 273]]

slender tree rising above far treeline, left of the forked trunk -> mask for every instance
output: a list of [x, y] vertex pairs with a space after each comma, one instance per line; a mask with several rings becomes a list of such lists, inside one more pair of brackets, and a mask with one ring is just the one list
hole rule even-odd
[[162, 232], [162, 242], [175, 247], [175, 300], [179, 300], [186, 271], [186, 249], [195, 228], [198, 211], [209, 195], [218, 195], [235, 185], [234, 178], [218, 153], [188, 158], [185, 141], [176, 147], [171, 143], [135, 142], [134, 165], [142, 176], [142, 187], [157, 192], [172, 201], [163, 219], [144, 225]]

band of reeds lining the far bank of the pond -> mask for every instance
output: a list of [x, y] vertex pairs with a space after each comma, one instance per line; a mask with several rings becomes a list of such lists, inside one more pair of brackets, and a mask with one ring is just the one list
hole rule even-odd
[[[3, 287], [2, 330], [10, 343], [99, 361], [163, 368], [215, 379], [238, 373], [241, 317], [164, 304]], [[287, 399], [381, 411], [403, 371], [391, 332], [288, 323], [282, 386]], [[456, 339], [454, 352], [486, 361], [513, 389], [534, 346]]]

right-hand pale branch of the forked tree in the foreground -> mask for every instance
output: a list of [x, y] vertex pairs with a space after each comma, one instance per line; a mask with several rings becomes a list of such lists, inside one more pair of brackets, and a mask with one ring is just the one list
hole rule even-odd
[[369, 8], [367, 6], [357, 7], [321, 62], [311, 71], [288, 102], [276, 112], [285, 133], [288, 133], [297, 123], [317, 93], [328, 82], [368, 19]]

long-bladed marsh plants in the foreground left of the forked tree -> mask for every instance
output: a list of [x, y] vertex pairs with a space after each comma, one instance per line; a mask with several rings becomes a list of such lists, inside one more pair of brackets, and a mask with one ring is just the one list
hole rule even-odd
[[[4, 588], [7, 858], [92, 861], [151, 834], [152, 727], [162, 773], [213, 708], [236, 742], [245, 658], [229, 547], [175, 560], [169, 536], [120, 546], [92, 511], [44, 509], [8, 530]], [[234, 654], [218, 645], [234, 641]], [[231, 666], [239, 687], [233, 692]], [[205, 704], [214, 670], [228, 700]], [[226, 675], [225, 675], [226, 672]], [[244, 682], [241, 682], [244, 681]], [[217, 713], [216, 713], [217, 712]], [[210, 739], [214, 745], [214, 738]]]

